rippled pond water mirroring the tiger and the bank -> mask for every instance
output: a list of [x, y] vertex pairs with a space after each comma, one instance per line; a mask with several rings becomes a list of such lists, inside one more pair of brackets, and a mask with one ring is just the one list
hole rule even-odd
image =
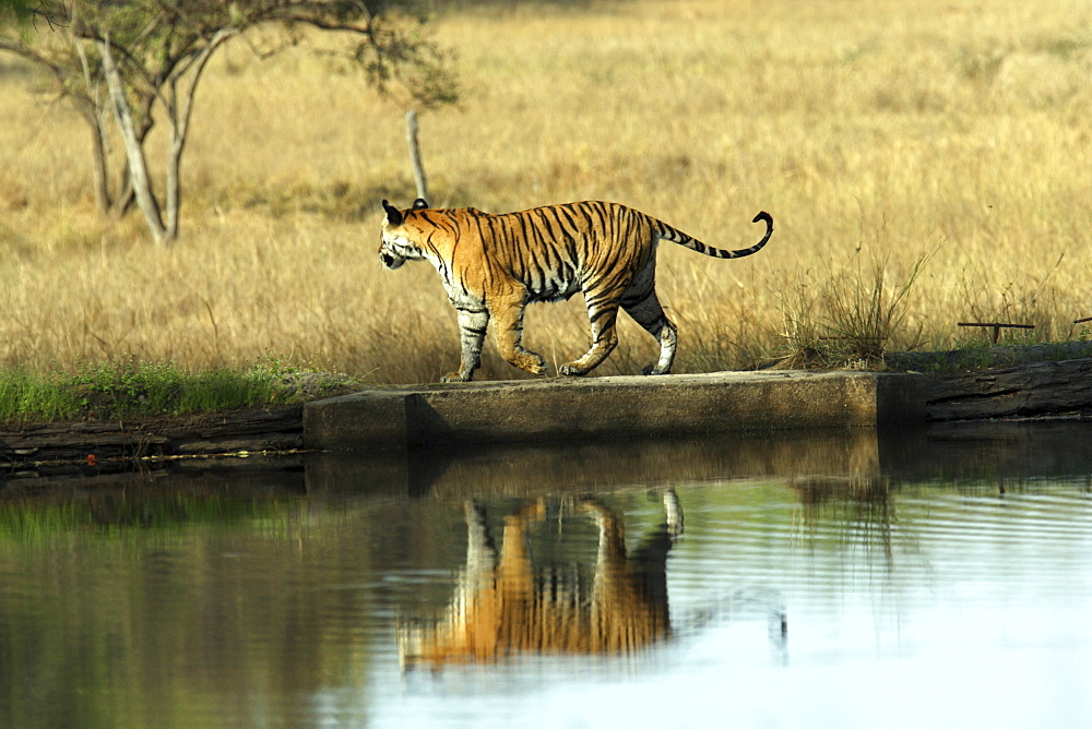
[[1092, 423], [0, 483], [0, 726], [1092, 726]]

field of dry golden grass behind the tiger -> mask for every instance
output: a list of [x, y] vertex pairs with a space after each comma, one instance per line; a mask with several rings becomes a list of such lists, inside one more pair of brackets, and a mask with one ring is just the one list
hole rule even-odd
[[[968, 320], [1065, 339], [1092, 316], [1087, 0], [634, 0], [432, 27], [463, 89], [420, 116], [434, 205], [613, 200], [722, 248], [773, 215], [749, 259], [661, 247], [676, 371], [835, 333], [830, 308], [855, 285], [878, 271], [887, 300], [923, 259], [891, 349], [983, 339]], [[376, 382], [456, 367], [436, 273], [378, 260], [379, 200], [415, 193], [403, 109], [360, 76], [226, 47], [197, 99], [171, 248], [138, 215], [97, 218], [88, 133], [35, 84], [0, 58], [0, 366], [272, 357]], [[622, 319], [595, 374], [655, 358]], [[531, 308], [525, 332], [555, 367], [589, 344], [579, 300]], [[478, 379], [518, 374], [490, 343]]]

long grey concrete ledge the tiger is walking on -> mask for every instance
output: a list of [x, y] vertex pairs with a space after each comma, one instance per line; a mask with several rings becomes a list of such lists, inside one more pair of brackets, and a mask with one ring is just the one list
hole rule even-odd
[[925, 381], [765, 370], [372, 390], [308, 403], [304, 444], [390, 449], [921, 423]]

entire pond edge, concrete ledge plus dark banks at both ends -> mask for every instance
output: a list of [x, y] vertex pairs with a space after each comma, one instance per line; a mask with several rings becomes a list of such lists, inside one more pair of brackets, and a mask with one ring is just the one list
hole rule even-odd
[[[1092, 417], [1092, 352], [1087, 343], [1071, 345], [1005, 348], [992, 361], [1005, 357], [1012, 363], [962, 372], [929, 370], [940, 367], [938, 358], [949, 370], [968, 366], [958, 359], [966, 352], [897, 355], [885, 372], [763, 370], [423, 385], [183, 418], [0, 426], [0, 459], [17, 470], [58, 461]], [[1055, 359], [1034, 359], [1044, 355]]]

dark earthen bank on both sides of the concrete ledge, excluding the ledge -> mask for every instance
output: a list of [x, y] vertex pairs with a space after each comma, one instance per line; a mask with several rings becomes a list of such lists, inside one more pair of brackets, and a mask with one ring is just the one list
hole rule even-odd
[[[1059, 349], [1059, 347], [1061, 347]], [[999, 350], [995, 352], [994, 350]], [[1076, 359], [1043, 359], [1060, 354]], [[927, 419], [1092, 417], [1092, 343], [892, 355], [888, 368], [922, 372]], [[929, 373], [968, 358], [1016, 362]], [[962, 359], [961, 359], [962, 358]], [[49, 463], [286, 453], [304, 447], [304, 405], [280, 405], [124, 421], [0, 425], [0, 466], [9, 473]]]

